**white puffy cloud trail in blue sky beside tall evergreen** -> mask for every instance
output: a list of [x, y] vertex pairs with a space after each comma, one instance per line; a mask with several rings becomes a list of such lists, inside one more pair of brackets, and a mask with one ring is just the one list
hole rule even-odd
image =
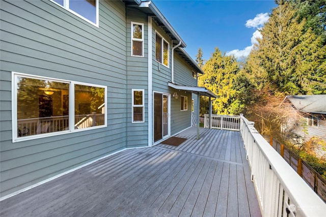
[[237, 59], [247, 57], [250, 54], [250, 51], [253, 49], [254, 44], [258, 43], [257, 38], [259, 38], [259, 39], [262, 38], [262, 35], [259, 32], [259, 28], [262, 27], [262, 25], [268, 21], [268, 18], [269, 18], [268, 13], [264, 13], [264, 14], [260, 13], [260, 14], [257, 14], [254, 19], [247, 20], [246, 27], [257, 28], [256, 31], [253, 33], [253, 36], [251, 37], [251, 40], [250, 40], [251, 46], [248, 46], [248, 47], [244, 48], [243, 50], [239, 50], [239, 49], [231, 50], [231, 51], [226, 52], [225, 54], [227, 56], [234, 55], [235, 58], [237, 58]]

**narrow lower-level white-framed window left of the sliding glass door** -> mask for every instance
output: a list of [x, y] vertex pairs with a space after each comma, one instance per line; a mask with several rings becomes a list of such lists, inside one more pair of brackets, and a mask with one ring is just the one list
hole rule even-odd
[[132, 122], [144, 122], [145, 94], [144, 89], [132, 89]]

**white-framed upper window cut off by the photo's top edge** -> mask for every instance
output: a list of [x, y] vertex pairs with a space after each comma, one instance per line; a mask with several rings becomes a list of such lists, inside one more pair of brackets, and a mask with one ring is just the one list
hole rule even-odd
[[98, 26], [98, 0], [51, 0], [71, 13]]

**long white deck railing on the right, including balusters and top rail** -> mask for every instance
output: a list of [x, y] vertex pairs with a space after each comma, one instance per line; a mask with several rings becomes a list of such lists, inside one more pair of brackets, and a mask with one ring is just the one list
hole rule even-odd
[[325, 216], [326, 204], [240, 115], [240, 132], [263, 216]]

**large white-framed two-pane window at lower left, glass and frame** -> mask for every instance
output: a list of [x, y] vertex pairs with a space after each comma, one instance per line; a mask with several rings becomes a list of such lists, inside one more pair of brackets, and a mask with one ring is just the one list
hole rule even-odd
[[13, 81], [14, 141], [106, 126], [105, 86], [18, 73]]

